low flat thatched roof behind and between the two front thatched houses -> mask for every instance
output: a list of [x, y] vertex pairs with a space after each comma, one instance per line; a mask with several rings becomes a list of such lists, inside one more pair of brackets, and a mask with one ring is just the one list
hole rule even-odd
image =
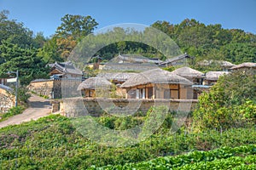
[[97, 77], [104, 77], [108, 81], [125, 82], [131, 77], [137, 76], [135, 72], [114, 72], [114, 73], [100, 73]]

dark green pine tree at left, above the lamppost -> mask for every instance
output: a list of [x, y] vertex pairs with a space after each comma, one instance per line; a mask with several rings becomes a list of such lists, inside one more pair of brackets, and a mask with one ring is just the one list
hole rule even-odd
[[3, 42], [0, 45], [1, 56], [0, 77], [7, 77], [8, 71], [19, 71], [20, 83], [28, 84], [33, 79], [49, 77], [46, 63], [37, 56], [35, 48], [20, 48], [16, 44]]

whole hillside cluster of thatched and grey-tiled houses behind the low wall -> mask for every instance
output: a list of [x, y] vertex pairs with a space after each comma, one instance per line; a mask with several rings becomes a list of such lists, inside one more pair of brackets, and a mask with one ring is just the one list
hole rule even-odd
[[[229, 74], [230, 71], [256, 68], [255, 63], [233, 65], [227, 61], [204, 60], [199, 64], [207, 66], [214, 63], [219, 65], [222, 71], [202, 73], [188, 66], [172, 72], [162, 69], [167, 66], [189, 65], [194, 62], [193, 59], [188, 54], [165, 61], [119, 54], [108, 64], [102, 65], [102, 59], [97, 56], [93, 68], [99, 69], [99, 74], [85, 80], [84, 72], [72, 62], [55, 62], [49, 64], [49, 79], [34, 80], [28, 88], [49, 99], [61, 99], [63, 82], [69, 84], [65, 87], [66, 92], [81, 92], [84, 98], [198, 99], [198, 96], [216, 83], [220, 76]], [[0, 84], [0, 88], [6, 91], [6, 79], [0, 79]]]

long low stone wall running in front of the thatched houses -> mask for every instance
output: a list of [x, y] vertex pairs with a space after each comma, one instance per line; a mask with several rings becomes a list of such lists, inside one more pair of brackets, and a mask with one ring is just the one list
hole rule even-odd
[[196, 99], [64, 99], [60, 102], [63, 116], [100, 116], [103, 111], [112, 114], [131, 115], [137, 111], [146, 113], [151, 106], [167, 105], [170, 111], [194, 111]]

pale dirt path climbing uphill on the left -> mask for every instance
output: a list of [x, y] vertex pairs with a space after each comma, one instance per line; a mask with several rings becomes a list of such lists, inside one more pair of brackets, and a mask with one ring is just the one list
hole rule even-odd
[[37, 120], [42, 116], [47, 116], [50, 112], [51, 105], [49, 99], [44, 99], [32, 94], [29, 100], [29, 107], [20, 115], [10, 117], [4, 122], [0, 122], [0, 128], [8, 125], [20, 124], [21, 122], [29, 122]]

